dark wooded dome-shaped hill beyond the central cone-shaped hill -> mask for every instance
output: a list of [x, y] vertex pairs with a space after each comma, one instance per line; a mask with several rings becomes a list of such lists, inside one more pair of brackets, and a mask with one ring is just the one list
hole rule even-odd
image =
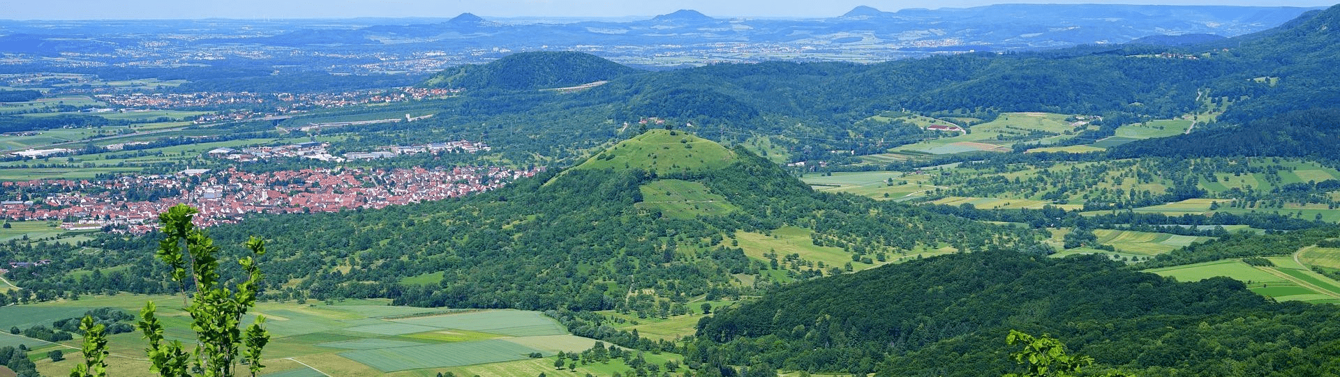
[[466, 90], [544, 90], [610, 80], [638, 70], [584, 52], [520, 52], [488, 64], [461, 66], [429, 78], [422, 86]]

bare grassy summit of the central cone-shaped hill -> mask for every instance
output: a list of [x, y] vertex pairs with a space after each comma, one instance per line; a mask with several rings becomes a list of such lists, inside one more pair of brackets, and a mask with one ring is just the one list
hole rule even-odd
[[683, 131], [649, 130], [574, 167], [575, 170], [641, 168], [657, 174], [720, 170], [736, 152]]

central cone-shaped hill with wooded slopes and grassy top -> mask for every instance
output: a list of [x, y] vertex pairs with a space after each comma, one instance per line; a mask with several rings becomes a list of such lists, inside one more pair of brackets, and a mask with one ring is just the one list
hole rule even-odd
[[[645, 193], [689, 191], [720, 202], [642, 203]], [[265, 295], [281, 299], [385, 297], [417, 306], [646, 310], [642, 305], [682, 305], [705, 294], [757, 295], [784, 281], [852, 269], [796, 259], [788, 259], [791, 266], [768, 265], [746, 257], [733, 239], [737, 231], [766, 234], [781, 226], [809, 229], [864, 266], [876, 257], [883, 263], [946, 246], [1029, 249], [1041, 237], [915, 206], [815, 193], [744, 148], [667, 130], [626, 140], [583, 167], [519, 179], [486, 194], [382, 210], [256, 215], [210, 233], [221, 245], [240, 245], [252, 234], [271, 239], [267, 274], [271, 282], [291, 283], [271, 286]], [[155, 266], [147, 261], [155, 245], [150, 239], [106, 238], [87, 245], [107, 250], [91, 258], [19, 253], [70, 255], [60, 269]], [[157, 267], [78, 279], [56, 267], [34, 271], [12, 279], [43, 297], [173, 290]], [[410, 278], [429, 283], [406, 283]], [[642, 291], [649, 294], [630, 301], [630, 293]]]

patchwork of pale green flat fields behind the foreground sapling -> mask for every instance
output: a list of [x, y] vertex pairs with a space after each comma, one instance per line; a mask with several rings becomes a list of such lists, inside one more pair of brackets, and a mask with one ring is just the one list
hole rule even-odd
[[[88, 309], [103, 306], [134, 313], [147, 299], [159, 305], [158, 314], [168, 326], [168, 338], [190, 340], [189, 318], [178, 310], [181, 298], [172, 295], [92, 295], [79, 301], [5, 306], [0, 307], [0, 328], [50, 326], [55, 320], [79, 317]], [[273, 336], [265, 348], [268, 373], [280, 377], [324, 376], [292, 361], [296, 360], [330, 376], [436, 376], [437, 372], [450, 370], [446, 368], [484, 370], [490, 366], [477, 364], [524, 361], [531, 353], [580, 352], [595, 344], [595, 340], [568, 334], [555, 320], [536, 311], [387, 306], [385, 299], [331, 303], [257, 303], [253, 313], [268, 318], [265, 325]], [[109, 376], [150, 376], [139, 333], [110, 338], [113, 357]], [[80, 362], [74, 350], [79, 340], [50, 345], [0, 336], [0, 346], [11, 344], [29, 346], [34, 349], [29, 354], [66, 349], [67, 361], [39, 362], [44, 376], [68, 374], [70, 368]], [[552, 358], [548, 365], [552, 368]]]

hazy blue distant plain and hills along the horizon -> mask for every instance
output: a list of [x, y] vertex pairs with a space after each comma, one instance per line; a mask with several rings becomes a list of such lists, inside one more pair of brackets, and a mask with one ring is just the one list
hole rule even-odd
[[[300, 48], [318, 56], [422, 59], [446, 53], [484, 63], [521, 51], [583, 51], [634, 66], [713, 61], [883, 61], [937, 52], [1026, 51], [1079, 44], [1120, 44], [1148, 36], [1238, 36], [1280, 25], [1309, 11], [1296, 7], [1002, 4], [902, 9], [856, 7], [833, 17], [713, 17], [691, 9], [632, 21], [536, 21], [480, 17], [352, 20], [5, 21], [0, 53], [63, 56], [67, 52], [158, 55], [168, 64], [218, 66], [210, 48]], [[1186, 37], [1142, 43], [1181, 44]], [[180, 56], [180, 57], [176, 57]], [[302, 53], [299, 53], [302, 56]], [[434, 55], [436, 56], [436, 55]], [[291, 67], [297, 61], [255, 63]], [[96, 60], [98, 57], [92, 57]], [[106, 59], [103, 59], [106, 60]], [[165, 64], [154, 60], [151, 64]], [[251, 61], [251, 60], [248, 60]], [[99, 63], [59, 63], [96, 67]], [[129, 63], [143, 67], [145, 63]], [[413, 66], [413, 64], [411, 64]], [[330, 64], [318, 68], [328, 70]], [[374, 72], [398, 70], [370, 68]], [[340, 70], [334, 70], [340, 71]], [[411, 70], [413, 71], [413, 70]], [[419, 70], [422, 71], [422, 70]], [[346, 70], [344, 72], [359, 72]]]

